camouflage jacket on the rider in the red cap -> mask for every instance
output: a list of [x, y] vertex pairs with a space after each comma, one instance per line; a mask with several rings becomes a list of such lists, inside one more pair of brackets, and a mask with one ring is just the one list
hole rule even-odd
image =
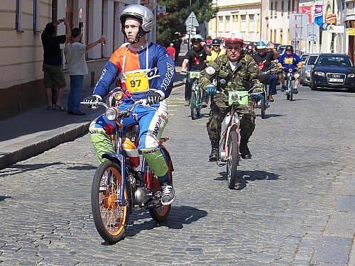
[[263, 84], [258, 80], [258, 65], [251, 55], [241, 55], [235, 70], [231, 70], [228, 57], [221, 55], [214, 60], [206, 69], [202, 71], [202, 89], [212, 84], [212, 80], [217, 78], [217, 82], [225, 79], [226, 84], [217, 84], [219, 91], [263, 91]]

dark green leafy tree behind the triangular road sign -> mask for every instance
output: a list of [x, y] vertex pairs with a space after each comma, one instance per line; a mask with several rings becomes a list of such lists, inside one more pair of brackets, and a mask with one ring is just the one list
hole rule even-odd
[[194, 11], [200, 23], [216, 15], [217, 10], [212, 9], [212, 0], [191, 1], [190, 9], [190, 0], [158, 0], [158, 5], [166, 6], [167, 15], [157, 18], [157, 43], [166, 47], [175, 38], [175, 32], [185, 33], [184, 22], [191, 11]]

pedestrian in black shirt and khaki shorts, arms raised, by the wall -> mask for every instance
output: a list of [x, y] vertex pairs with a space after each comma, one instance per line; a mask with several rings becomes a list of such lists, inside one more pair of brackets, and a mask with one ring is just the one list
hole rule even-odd
[[[57, 35], [57, 26], [62, 22], [65, 24], [65, 35]], [[66, 84], [62, 71], [60, 43], [67, 43], [70, 40], [70, 36], [70, 26], [66, 18], [48, 23], [40, 36], [43, 44], [44, 87], [48, 110], [66, 111], [62, 106], [62, 96]], [[57, 90], [55, 104], [52, 102], [52, 89]]]

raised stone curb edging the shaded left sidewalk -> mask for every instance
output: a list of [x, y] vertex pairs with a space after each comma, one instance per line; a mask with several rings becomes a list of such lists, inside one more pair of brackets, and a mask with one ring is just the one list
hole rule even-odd
[[[173, 84], [173, 88], [179, 87], [182, 84], [185, 84], [185, 82], [175, 82], [175, 84]], [[80, 137], [80, 135], [86, 134], [89, 131], [91, 121], [98, 115], [99, 112], [93, 113], [92, 115], [84, 118], [85, 120], [89, 119], [89, 121], [77, 123], [76, 126], [69, 124], [63, 126], [62, 128], [57, 128], [55, 129], [54, 135], [53, 133], [45, 133], [43, 135], [36, 136], [31, 140], [16, 143], [13, 147], [11, 147], [12, 150], [9, 150], [8, 153], [5, 151], [0, 154], [0, 170], [9, 165], [13, 165], [16, 162], [20, 162], [39, 155], [40, 153], [44, 153], [46, 150], [55, 148], [62, 143], [73, 141]], [[31, 144], [28, 143], [29, 141], [31, 141]]]

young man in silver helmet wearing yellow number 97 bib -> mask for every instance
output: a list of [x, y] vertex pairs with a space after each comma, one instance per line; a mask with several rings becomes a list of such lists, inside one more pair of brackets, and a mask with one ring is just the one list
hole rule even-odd
[[[130, 123], [139, 124], [138, 150], [159, 179], [162, 204], [169, 205], [175, 200], [175, 192], [168, 178], [168, 165], [163, 150], [159, 148], [159, 140], [168, 123], [168, 108], [163, 100], [168, 98], [173, 87], [175, 64], [165, 48], [146, 40], [146, 33], [154, 26], [153, 13], [146, 6], [126, 6], [119, 14], [119, 19], [121, 31], [129, 43], [114, 51], [104, 65], [93, 95], [84, 99], [84, 102], [91, 106], [102, 101], [109, 94], [110, 84], [118, 76], [125, 92], [124, 104], [119, 106], [120, 110], [129, 108], [134, 101], [140, 99], [146, 99], [147, 104], [151, 105], [136, 106], [133, 116], [124, 118], [124, 126]], [[92, 144], [100, 162], [104, 153], [115, 153], [110, 139], [114, 128], [115, 123], [104, 115], [92, 121], [89, 126]]]

